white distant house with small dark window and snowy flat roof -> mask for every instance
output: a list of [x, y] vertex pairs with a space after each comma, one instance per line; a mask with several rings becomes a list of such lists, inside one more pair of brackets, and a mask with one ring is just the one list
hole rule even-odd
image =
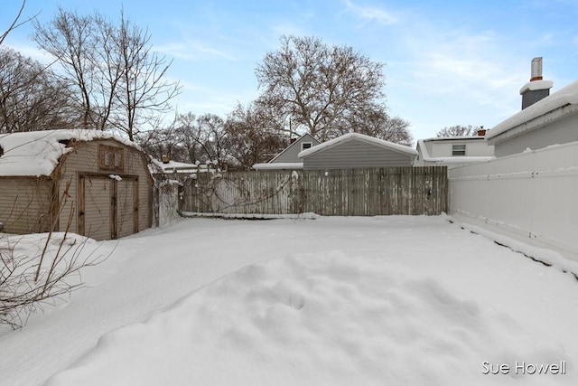
[[414, 166], [449, 168], [488, 161], [494, 158], [494, 146], [488, 145], [480, 130], [477, 137], [435, 137], [417, 141]]

